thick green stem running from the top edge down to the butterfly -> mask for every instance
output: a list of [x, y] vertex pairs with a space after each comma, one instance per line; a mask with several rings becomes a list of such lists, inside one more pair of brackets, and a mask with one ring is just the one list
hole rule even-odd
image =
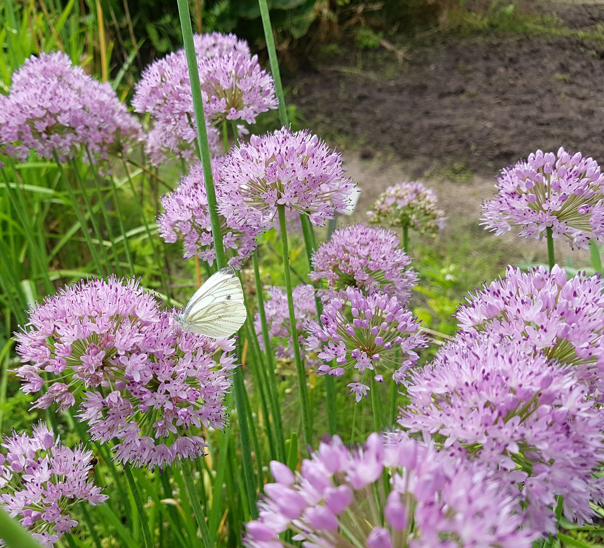
[[[195, 44], [193, 42], [193, 27], [191, 27], [191, 14], [187, 0], [178, 0], [178, 13], [181, 18], [182, 41], [185, 45], [189, 80], [191, 81], [191, 95], [193, 95], [193, 112], [195, 114], [195, 126], [197, 129], [197, 140], [199, 145], [199, 157], [204, 170], [205, 192], [208, 197], [208, 212], [210, 213], [210, 224], [214, 249], [216, 250], [216, 263], [218, 268], [226, 266], [225, 248], [222, 243], [222, 231], [220, 230], [220, 219], [216, 208], [216, 189], [214, 189], [214, 177], [210, 161], [210, 145], [208, 144], [208, 131], [205, 127], [204, 99], [201, 95], [199, 83], [199, 67], [195, 55]], [[245, 413], [241, 415], [245, 418]]]

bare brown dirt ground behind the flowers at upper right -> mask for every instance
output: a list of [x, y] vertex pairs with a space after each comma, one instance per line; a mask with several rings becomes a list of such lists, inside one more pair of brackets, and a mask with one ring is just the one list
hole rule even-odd
[[[569, 28], [604, 23], [604, 5], [541, 10]], [[335, 55], [287, 82], [313, 130], [344, 144], [345, 165], [363, 189], [356, 219], [388, 184], [421, 179], [437, 190], [451, 219], [443, 237], [451, 230], [493, 237], [477, 224], [498, 170], [560, 146], [604, 163], [603, 44], [480, 36], [434, 40], [407, 51], [403, 63], [391, 53], [363, 56]], [[544, 242], [510, 234], [502, 245], [510, 262], [545, 260]], [[556, 242], [559, 262], [570, 253]], [[572, 257], [574, 265], [588, 263], [586, 252]]]

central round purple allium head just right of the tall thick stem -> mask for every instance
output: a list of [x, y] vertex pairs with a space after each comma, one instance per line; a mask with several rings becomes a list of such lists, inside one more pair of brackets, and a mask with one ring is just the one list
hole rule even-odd
[[222, 181], [220, 212], [253, 224], [261, 218], [266, 225], [274, 222], [278, 204], [324, 225], [336, 211], [344, 213], [353, 187], [338, 153], [309, 131], [286, 127], [231, 149]]

